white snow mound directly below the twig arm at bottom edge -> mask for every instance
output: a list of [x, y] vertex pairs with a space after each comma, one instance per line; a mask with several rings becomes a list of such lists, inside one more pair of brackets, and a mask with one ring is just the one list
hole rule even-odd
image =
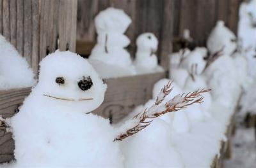
[[147, 129], [121, 143], [125, 167], [184, 167], [179, 153], [171, 144], [168, 124], [156, 118]]

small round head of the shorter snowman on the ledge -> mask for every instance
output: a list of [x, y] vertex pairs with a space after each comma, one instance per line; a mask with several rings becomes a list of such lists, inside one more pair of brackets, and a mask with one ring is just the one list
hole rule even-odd
[[158, 40], [151, 32], [140, 34], [136, 39], [138, 52], [150, 52], [150, 54], [157, 51]]

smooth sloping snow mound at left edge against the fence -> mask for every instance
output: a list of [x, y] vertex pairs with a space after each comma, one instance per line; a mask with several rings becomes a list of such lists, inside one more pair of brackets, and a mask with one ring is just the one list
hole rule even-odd
[[17, 50], [0, 35], [0, 90], [32, 87], [34, 74]]

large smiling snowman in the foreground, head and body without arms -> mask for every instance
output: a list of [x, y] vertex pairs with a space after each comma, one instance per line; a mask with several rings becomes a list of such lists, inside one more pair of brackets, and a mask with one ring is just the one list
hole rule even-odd
[[115, 130], [91, 114], [106, 84], [86, 59], [56, 51], [40, 62], [38, 84], [10, 119], [17, 167], [123, 167]]

